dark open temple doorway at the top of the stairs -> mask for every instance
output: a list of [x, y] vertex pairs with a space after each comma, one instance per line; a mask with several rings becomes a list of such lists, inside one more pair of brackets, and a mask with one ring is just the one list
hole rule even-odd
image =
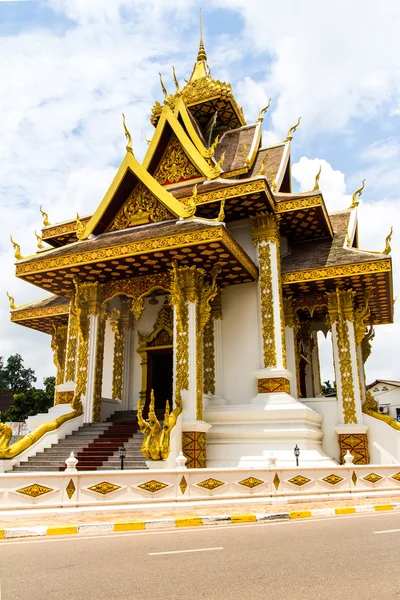
[[169, 404], [171, 406], [172, 371], [172, 348], [165, 348], [163, 350], [149, 350], [147, 352], [146, 410], [150, 403], [151, 390], [154, 390], [156, 411], [160, 410], [164, 415], [165, 403], [167, 400], [169, 400]]

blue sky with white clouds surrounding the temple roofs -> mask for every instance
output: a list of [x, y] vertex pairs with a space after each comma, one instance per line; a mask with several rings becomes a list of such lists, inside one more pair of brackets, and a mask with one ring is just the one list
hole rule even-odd
[[[173, 91], [198, 50], [197, 0], [0, 0], [0, 356], [19, 352], [38, 384], [55, 371], [50, 338], [9, 323], [6, 290], [43, 297], [14, 276], [10, 234], [36, 250], [39, 205], [52, 223], [91, 214], [125, 153], [151, 137], [150, 110]], [[208, 0], [204, 42], [213, 77], [230, 82], [247, 122], [269, 98], [263, 143], [292, 142], [295, 190], [320, 187], [329, 211], [358, 209], [360, 247], [382, 251], [394, 225], [400, 289], [400, 3], [385, 0]], [[377, 327], [367, 380], [400, 379], [399, 322]], [[332, 379], [329, 342], [322, 379]]]

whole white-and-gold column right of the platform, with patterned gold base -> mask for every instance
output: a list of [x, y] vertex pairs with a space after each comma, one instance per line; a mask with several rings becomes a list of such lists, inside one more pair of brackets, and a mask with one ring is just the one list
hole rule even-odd
[[327, 293], [337, 395], [343, 422], [343, 425], [336, 427], [336, 431], [342, 462], [346, 452], [350, 451], [354, 456], [354, 464], [368, 464], [367, 428], [362, 423], [362, 391], [357, 357], [357, 339], [360, 340], [360, 337], [355, 327], [355, 295], [353, 290], [339, 288]]

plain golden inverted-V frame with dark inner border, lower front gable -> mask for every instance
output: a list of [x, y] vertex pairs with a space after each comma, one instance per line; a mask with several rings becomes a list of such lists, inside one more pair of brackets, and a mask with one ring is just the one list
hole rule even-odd
[[[170, 213], [175, 218], [186, 218], [189, 216], [184, 205], [167, 192], [143, 168], [131, 152], [127, 152], [106, 195], [83, 230], [80, 237], [81, 240], [87, 239], [91, 234], [98, 235], [99, 233], [103, 233], [111, 225], [122, 206], [128, 200], [128, 198], [124, 198], [124, 201], [121, 203], [118, 195], [120, 191], [123, 191], [129, 179], [131, 179], [130, 185], [132, 188], [136, 188], [140, 184], [142, 189], [146, 190], [146, 194], [149, 197], [155, 198], [156, 202], [160, 204], [160, 208], [166, 213]], [[143, 210], [141, 206], [139, 208]]]

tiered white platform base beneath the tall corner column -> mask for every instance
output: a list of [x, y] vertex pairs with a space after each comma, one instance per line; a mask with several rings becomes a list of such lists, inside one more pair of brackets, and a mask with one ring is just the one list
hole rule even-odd
[[[261, 400], [261, 398], [260, 398]], [[207, 434], [207, 467], [259, 467], [276, 457], [278, 467], [336, 465], [322, 449], [322, 416], [301, 402], [209, 407], [204, 413], [212, 428]]]

